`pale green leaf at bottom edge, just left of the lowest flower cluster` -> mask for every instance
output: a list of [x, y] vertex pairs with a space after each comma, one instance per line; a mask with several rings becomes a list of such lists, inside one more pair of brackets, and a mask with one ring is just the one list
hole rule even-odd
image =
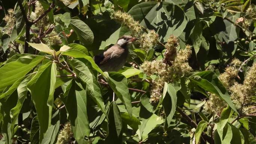
[[52, 125], [47, 129], [40, 144], [54, 144], [60, 128], [60, 113], [57, 110], [52, 116]]

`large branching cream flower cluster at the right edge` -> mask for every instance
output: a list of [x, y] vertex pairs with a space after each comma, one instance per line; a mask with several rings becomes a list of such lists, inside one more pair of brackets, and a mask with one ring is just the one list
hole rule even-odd
[[[238, 59], [234, 59], [231, 64], [232, 66], [227, 67], [225, 72], [220, 74], [219, 79], [231, 94], [231, 100], [235, 104], [235, 107], [240, 109], [241, 113], [252, 113], [251, 108], [256, 106], [252, 102], [255, 98], [256, 64], [253, 64], [247, 72], [243, 84], [234, 82], [234, 78], [238, 73], [238, 66], [241, 62]], [[210, 94], [209, 100], [204, 105], [204, 111], [220, 114], [226, 106], [226, 102], [220, 99], [219, 96]]]

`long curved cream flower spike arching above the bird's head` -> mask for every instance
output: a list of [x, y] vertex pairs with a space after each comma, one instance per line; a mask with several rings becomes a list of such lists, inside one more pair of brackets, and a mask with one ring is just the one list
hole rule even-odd
[[120, 10], [111, 13], [110, 17], [116, 21], [122, 22], [131, 31], [131, 36], [139, 36], [142, 33], [142, 27], [135, 21], [131, 15]]

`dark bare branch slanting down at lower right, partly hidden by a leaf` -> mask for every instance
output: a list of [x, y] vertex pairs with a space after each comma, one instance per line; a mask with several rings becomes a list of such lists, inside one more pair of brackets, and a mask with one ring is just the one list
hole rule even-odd
[[[193, 128], [197, 127], [196, 123], [182, 110], [182, 108], [177, 107], [176, 110], [179, 111], [179, 113], [182, 115], [182, 118], [184, 118], [188, 122], [188, 125], [192, 126]], [[202, 132], [202, 137], [208, 143], [214, 144], [213, 138], [205, 134], [205, 132]]]

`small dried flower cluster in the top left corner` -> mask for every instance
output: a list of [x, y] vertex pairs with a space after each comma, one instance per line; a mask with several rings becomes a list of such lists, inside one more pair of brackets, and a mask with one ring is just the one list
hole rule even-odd
[[4, 16], [3, 20], [6, 22], [6, 25], [5, 27], [3, 28], [3, 33], [6, 33], [6, 34], [11, 34], [12, 33], [12, 29], [15, 25], [15, 19], [14, 19], [14, 16], [13, 16], [13, 9], [8, 9], [8, 14]]

